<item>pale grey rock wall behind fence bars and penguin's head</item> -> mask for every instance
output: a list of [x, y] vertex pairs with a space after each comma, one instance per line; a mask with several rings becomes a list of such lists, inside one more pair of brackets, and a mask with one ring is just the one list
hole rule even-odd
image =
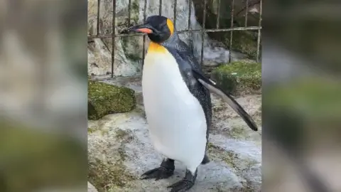
[[[191, 1], [190, 1], [191, 2]], [[129, 0], [117, 1], [116, 5], [116, 28], [115, 33], [119, 33], [129, 26]], [[190, 26], [188, 26], [189, 7], [192, 7], [190, 15]], [[162, 2], [162, 15], [173, 20], [174, 1]], [[200, 23], [195, 18], [195, 9], [193, 3], [188, 0], [178, 0], [176, 6], [176, 23], [178, 31], [190, 29], [201, 29]], [[99, 33], [112, 33], [112, 1], [101, 1], [99, 14]], [[147, 0], [146, 16], [158, 14], [159, 0]], [[142, 23], [144, 21], [144, 0], [131, 0], [131, 21], [130, 25]], [[97, 33], [97, 0], [88, 1], [88, 35], [93, 36]], [[201, 33], [181, 33], [180, 38], [190, 46], [197, 60], [200, 60], [202, 49]], [[223, 43], [211, 41], [204, 34], [204, 56], [203, 61], [206, 65], [218, 65], [227, 63], [229, 50], [224, 48]], [[129, 36], [115, 38], [115, 58], [114, 75], [115, 76], [133, 76], [141, 75], [143, 38], [141, 36]], [[106, 75], [112, 73], [112, 39], [93, 39], [88, 43], [88, 73], [91, 75]], [[146, 38], [148, 46], [148, 38]], [[232, 57], [246, 58], [247, 55], [240, 55], [232, 52]]]

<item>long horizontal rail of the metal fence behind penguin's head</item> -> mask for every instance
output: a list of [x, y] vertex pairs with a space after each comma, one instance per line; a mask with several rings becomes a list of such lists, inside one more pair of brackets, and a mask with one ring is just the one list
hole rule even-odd
[[[227, 32], [227, 31], [258, 31], [261, 29], [259, 26], [249, 26], [247, 28], [244, 27], [234, 27], [234, 28], [210, 28], [210, 29], [193, 29], [193, 30], [182, 30], [177, 31], [176, 33], [212, 33], [212, 32]], [[146, 36], [142, 33], [131, 33], [131, 34], [117, 34], [115, 37], [130, 37], [130, 36]], [[88, 41], [91, 41], [94, 38], [111, 38], [112, 35], [101, 35], [101, 36], [88, 36]]]

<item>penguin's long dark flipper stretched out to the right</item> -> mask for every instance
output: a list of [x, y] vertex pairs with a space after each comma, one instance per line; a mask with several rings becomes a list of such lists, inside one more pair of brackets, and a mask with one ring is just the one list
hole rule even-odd
[[206, 78], [204, 75], [197, 72], [197, 70], [193, 70], [193, 76], [197, 79], [197, 81], [199, 81], [202, 85], [204, 85], [204, 87], [206, 87], [211, 92], [214, 92], [215, 94], [219, 95], [222, 98], [222, 100], [227, 102], [229, 106], [231, 106], [232, 109], [235, 112], [237, 112], [240, 115], [240, 117], [244, 119], [244, 121], [247, 123], [247, 125], [249, 125], [249, 127], [252, 130], [254, 131], [258, 130], [257, 125], [254, 122], [254, 120], [250, 117], [249, 114], [247, 114], [247, 112], [245, 112], [243, 107], [240, 106], [239, 103], [236, 100], [234, 100], [234, 98], [231, 95], [222, 91], [220, 87], [215, 85], [215, 82], [212, 82], [212, 80], [210, 80], [209, 78]]

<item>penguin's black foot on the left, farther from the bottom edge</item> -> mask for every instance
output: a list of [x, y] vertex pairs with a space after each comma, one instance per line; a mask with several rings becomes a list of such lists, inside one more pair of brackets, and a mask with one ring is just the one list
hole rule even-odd
[[160, 167], [146, 171], [146, 173], [142, 174], [141, 179], [155, 178], [155, 181], [158, 181], [159, 179], [168, 178], [173, 176], [174, 169], [174, 160], [164, 159]]

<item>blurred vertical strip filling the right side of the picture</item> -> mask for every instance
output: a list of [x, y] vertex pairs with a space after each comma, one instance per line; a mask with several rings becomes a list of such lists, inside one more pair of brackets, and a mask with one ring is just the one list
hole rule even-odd
[[262, 191], [341, 191], [340, 1], [267, 1]]

